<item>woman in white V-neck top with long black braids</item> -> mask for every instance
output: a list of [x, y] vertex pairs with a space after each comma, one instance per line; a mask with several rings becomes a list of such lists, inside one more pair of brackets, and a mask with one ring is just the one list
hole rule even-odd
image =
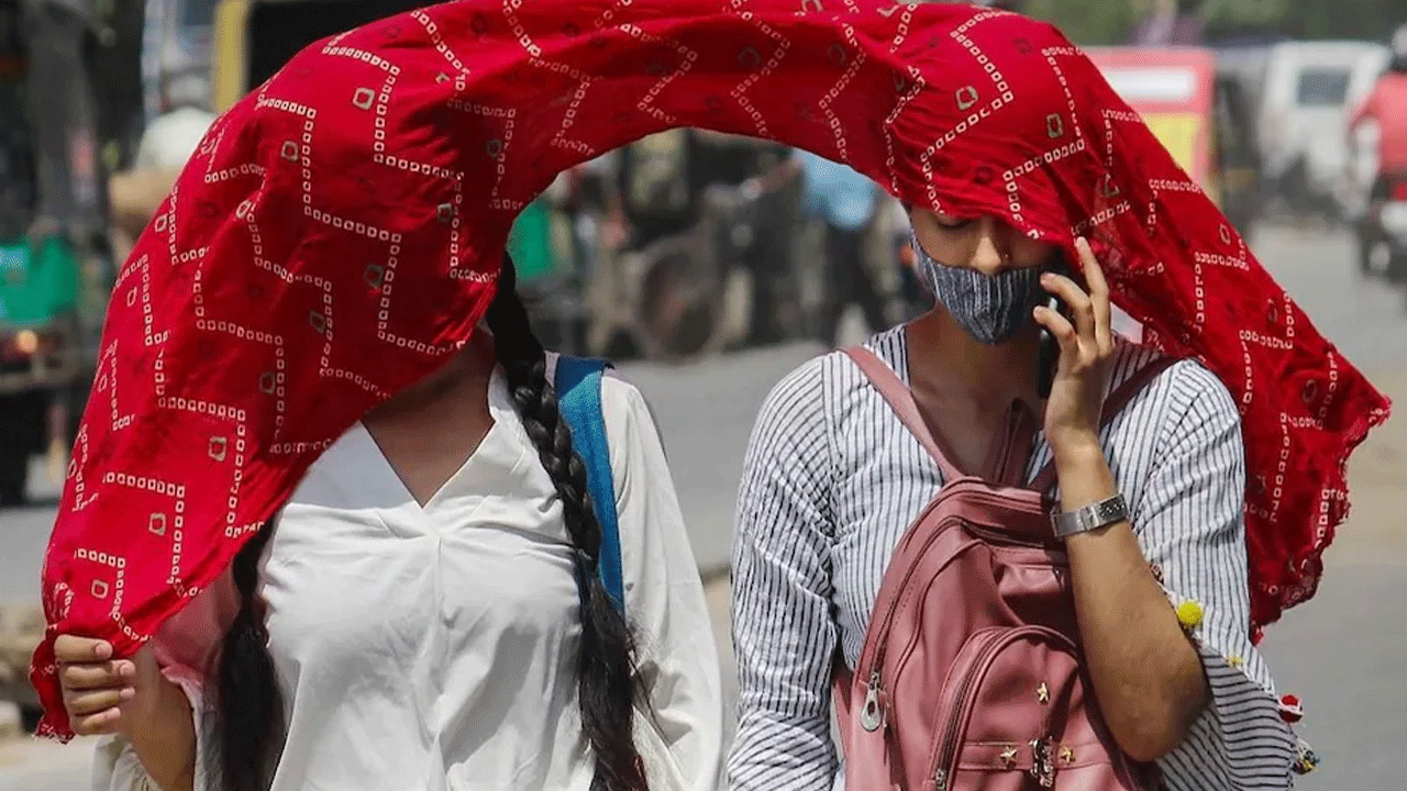
[[604, 380], [628, 624], [511, 262], [485, 318], [163, 632], [238, 609], [219, 645], [167, 642], [190, 659], [159, 669], [151, 647], [110, 663], [108, 643], [58, 639], [75, 729], [111, 735], [98, 788], [716, 787], [715, 645], [650, 412]]

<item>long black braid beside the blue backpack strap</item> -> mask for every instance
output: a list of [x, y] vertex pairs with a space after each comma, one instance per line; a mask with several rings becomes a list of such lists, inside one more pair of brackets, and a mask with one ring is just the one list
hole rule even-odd
[[498, 293], [488, 308], [488, 329], [494, 334], [494, 353], [504, 369], [518, 415], [557, 487], [567, 533], [575, 545], [577, 574], [584, 581], [577, 694], [581, 698], [582, 732], [597, 761], [591, 788], [644, 791], [644, 770], [632, 736], [633, 702], [639, 692], [635, 640], [597, 573], [601, 525], [591, 510], [587, 464], [571, 449], [571, 432], [547, 383], [545, 350], [518, 297], [518, 274], [508, 256], [504, 256]]

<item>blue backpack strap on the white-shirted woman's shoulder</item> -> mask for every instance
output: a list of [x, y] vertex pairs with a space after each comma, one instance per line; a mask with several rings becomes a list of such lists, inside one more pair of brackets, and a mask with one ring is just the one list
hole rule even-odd
[[[571, 429], [571, 446], [587, 464], [587, 488], [601, 525], [601, 557], [597, 566], [606, 593], [625, 612], [625, 577], [620, 571], [620, 532], [616, 526], [615, 480], [611, 476], [611, 448], [601, 412], [601, 377], [611, 363], [601, 359], [557, 357], [553, 390], [561, 419]], [[578, 580], [580, 581], [580, 580]]]

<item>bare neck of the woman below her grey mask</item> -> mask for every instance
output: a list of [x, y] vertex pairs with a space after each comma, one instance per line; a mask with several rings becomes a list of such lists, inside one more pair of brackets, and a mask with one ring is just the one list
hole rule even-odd
[[936, 307], [909, 324], [908, 341], [909, 377], [922, 388], [976, 404], [1005, 407], [1012, 398], [1038, 403], [1036, 322], [1005, 343], [982, 343]]

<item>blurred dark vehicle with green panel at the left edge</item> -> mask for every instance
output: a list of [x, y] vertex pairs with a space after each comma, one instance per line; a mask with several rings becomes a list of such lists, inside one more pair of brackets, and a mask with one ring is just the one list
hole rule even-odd
[[[118, 4], [0, 0], [0, 504], [30, 457], [62, 477], [97, 360], [114, 263], [108, 163], [121, 118]], [[111, 139], [108, 135], [114, 135]]]

